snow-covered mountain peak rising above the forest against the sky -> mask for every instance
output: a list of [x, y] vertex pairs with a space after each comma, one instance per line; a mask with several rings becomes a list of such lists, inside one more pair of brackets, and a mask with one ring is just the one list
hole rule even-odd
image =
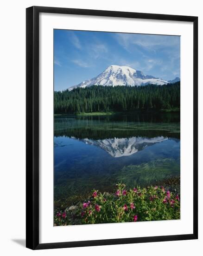
[[167, 84], [168, 81], [152, 75], [145, 75], [139, 70], [135, 70], [127, 66], [112, 65], [106, 68], [101, 74], [96, 77], [83, 81], [82, 83], [69, 88], [71, 91], [74, 88], [89, 87], [92, 85], [102, 86], [140, 86], [147, 84]]

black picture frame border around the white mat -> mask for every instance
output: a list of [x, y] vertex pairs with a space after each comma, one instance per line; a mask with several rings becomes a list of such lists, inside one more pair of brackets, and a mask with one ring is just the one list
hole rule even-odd
[[[193, 23], [193, 233], [173, 236], [150, 236], [122, 239], [39, 243], [39, 13], [63, 13], [105, 17], [125, 17], [150, 20], [188, 21]], [[198, 238], [198, 17], [151, 13], [129, 13], [58, 7], [29, 7], [26, 9], [26, 247], [54, 249], [95, 245], [149, 243]]]

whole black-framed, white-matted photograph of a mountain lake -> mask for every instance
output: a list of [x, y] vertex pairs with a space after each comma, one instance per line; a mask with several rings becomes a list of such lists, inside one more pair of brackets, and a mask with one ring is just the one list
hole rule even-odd
[[26, 247], [197, 239], [197, 17], [26, 9]]

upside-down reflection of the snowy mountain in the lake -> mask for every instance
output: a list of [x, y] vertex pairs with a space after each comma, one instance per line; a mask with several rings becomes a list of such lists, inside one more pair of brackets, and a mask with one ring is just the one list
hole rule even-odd
[[[72, 137], [76, 139], [75, 137]], [[168, 137], [155, 137], [155, 138], [145, 138], [145, 137], [131, 137], [131, 138], [113, 138], [104, 140], [90, 140], [82, 139], [86, 144], [97, 146], [105, 150], [109, 155], [113, 157], [121, 157], [133, 155], [136, 152], [151, 146], [155, 143], [168, 140]]]

